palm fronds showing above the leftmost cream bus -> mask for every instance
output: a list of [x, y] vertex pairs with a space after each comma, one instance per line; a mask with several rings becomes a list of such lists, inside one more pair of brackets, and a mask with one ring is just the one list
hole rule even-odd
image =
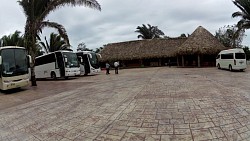
[[15, 31], [14, 34], [4, 35], [0, 39], [0, 46], [22, 46], [24, 47], [23, 35], [20, 31]]

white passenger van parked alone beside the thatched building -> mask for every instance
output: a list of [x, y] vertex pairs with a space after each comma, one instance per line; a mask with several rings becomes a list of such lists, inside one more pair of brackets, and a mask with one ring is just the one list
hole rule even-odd
[[244, 71], [247, 68], [246, 55], [243, 49], [235, 48], [222, 50], [216, 57], [218, 69]]

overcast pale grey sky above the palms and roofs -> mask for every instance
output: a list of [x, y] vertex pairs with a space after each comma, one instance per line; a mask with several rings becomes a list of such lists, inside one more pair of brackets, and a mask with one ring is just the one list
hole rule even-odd
[[[17, 0], [1, 0], [0, 37], [19, 30], [24, 33], [25, 16]], [[87, 7], [63, 7], [47, 17], [66, 28], [74, 51], [84, 42], [87, 48], [96, 49], [108, 43], [137, 40], [137, 26], [158, 26], [166, 36], [191, 34], [203, 26], [213, 35], [220, 27], [236, 24], [232, 18], [239, 9], [232, 0], [97, 0], [102, 10]], [[55, 30], [46, 29], [49, 36]], [[250, 30], [246, 32], [250, 36]], [[250, 37], [243, 45], [250, 46]]]

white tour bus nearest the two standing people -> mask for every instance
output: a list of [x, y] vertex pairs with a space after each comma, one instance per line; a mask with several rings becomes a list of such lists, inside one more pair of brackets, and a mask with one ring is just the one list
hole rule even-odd
[[91, 51], [79, 51], [76, 52], [78, 60], [82, 59], [80, 63], [81, 75], [97, 74], [101, 72], [101, 67], [99, 64], [99, 58], [101, 55]]

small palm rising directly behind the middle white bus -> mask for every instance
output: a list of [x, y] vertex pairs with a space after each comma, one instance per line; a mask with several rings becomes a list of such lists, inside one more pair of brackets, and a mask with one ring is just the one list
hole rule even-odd
[[50, 34], [49, 42], [47, 41], [47, 39], [45, 37], [45, 43], [42, 41], [40, 41], [39, 43], [40, 43], [41, 47], [45, 50], [45, 53], [54, 52], [57, 50], [68, 50], [69, 49], [68, 44], [65, 43], [64, 40], [62, 40], [62, 36], [55, 34], [55, 33]]

